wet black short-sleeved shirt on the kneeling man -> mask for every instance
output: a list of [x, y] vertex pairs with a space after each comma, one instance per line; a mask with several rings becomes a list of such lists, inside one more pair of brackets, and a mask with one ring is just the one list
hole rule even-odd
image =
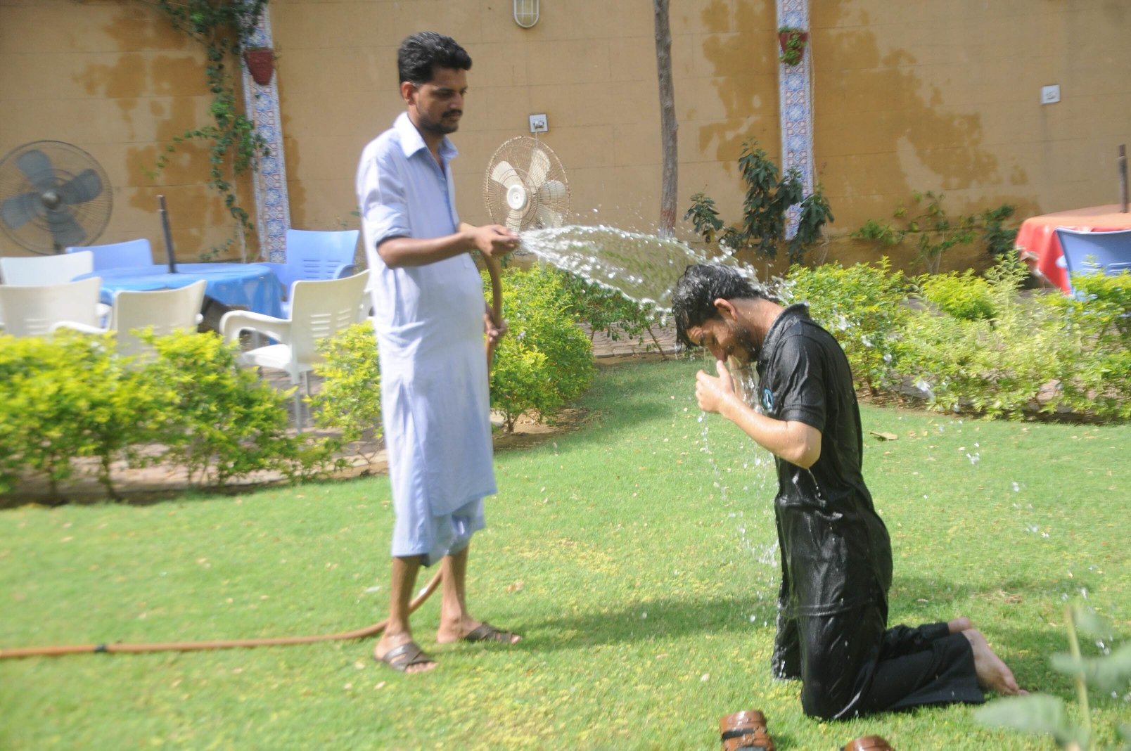
[[766, 335], [758, 376], [768, 416], [821, 431], [821, 455], [811, 468], [777, 459], [786, 614], [828, 615], [886, 602], [891, 543], [861, 472], [860, 408], [844, 351], [805, 305], [791, 305]]

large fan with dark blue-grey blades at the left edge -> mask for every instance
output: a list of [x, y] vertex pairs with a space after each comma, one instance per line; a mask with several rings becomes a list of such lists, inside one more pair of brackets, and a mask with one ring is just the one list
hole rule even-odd
[[93, 243], [111, 206], [106, 173], [77, 146], [34, 141], [0, 159], [0, 228], [27, 250], [59, 253]]

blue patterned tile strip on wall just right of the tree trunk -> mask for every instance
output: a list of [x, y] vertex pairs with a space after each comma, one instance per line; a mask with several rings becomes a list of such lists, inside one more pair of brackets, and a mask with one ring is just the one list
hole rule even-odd
[[[809, 0], [777, 0], [778, 27], [793, 26], [809, 31]], [[775, 35], [776, 37], [776, 35]], [[812, 41], [812, 40], [810, 40]], [[796, 167], [805, 195], [813, 192], [813, 96], [810, 45], [796, 66], [778, 63], [778, 114], [782, 121], [782, 173]], [[797, 232], [801, 210], [791, 206], [786, 212], [786, 236]]]

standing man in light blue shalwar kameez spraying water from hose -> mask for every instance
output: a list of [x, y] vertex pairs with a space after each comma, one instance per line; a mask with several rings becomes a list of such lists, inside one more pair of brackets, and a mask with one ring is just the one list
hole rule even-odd
[[373, 657], [400, 672], [435, 667], [408, 628], [421, 564], [440, 561], [443, 572], [437, 641], [519, 640], [473, 619], [465, 596], [468, 544], [484, 526], [483, 498], [495, 493], [483, 336], [506, 331], [485, 313], [469, 252], [499, 257], [518, 244], [506, 227], [456, 214], [447, 133], [459, 127], [470, 67], [448, 36], [407, 37], [397, 54], [407, 112], [357, 166], [396, 512], [389, 623]]

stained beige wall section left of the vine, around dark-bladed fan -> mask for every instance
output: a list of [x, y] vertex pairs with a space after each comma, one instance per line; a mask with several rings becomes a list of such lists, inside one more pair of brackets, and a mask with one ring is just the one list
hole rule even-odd
[[[147, 174], [170, 139], [208, 122], [210, 101], [199, 45], [152, 7], [0, 0], [0, 156], [37, 140], [66, 141], [93, 156], [113, 191], [97, 242], [148, 238], [163, 259], [158, 195], [181, 260], [233, 236], [233, 219], [206, 187], [206, 148], [181, 145], [166, 170]], [[253, 208], [250, 183], [240, 200]], [[0, 252], [26, 253], [3, 234]], [[230, 252], [238, 256], [234, 247]]]

